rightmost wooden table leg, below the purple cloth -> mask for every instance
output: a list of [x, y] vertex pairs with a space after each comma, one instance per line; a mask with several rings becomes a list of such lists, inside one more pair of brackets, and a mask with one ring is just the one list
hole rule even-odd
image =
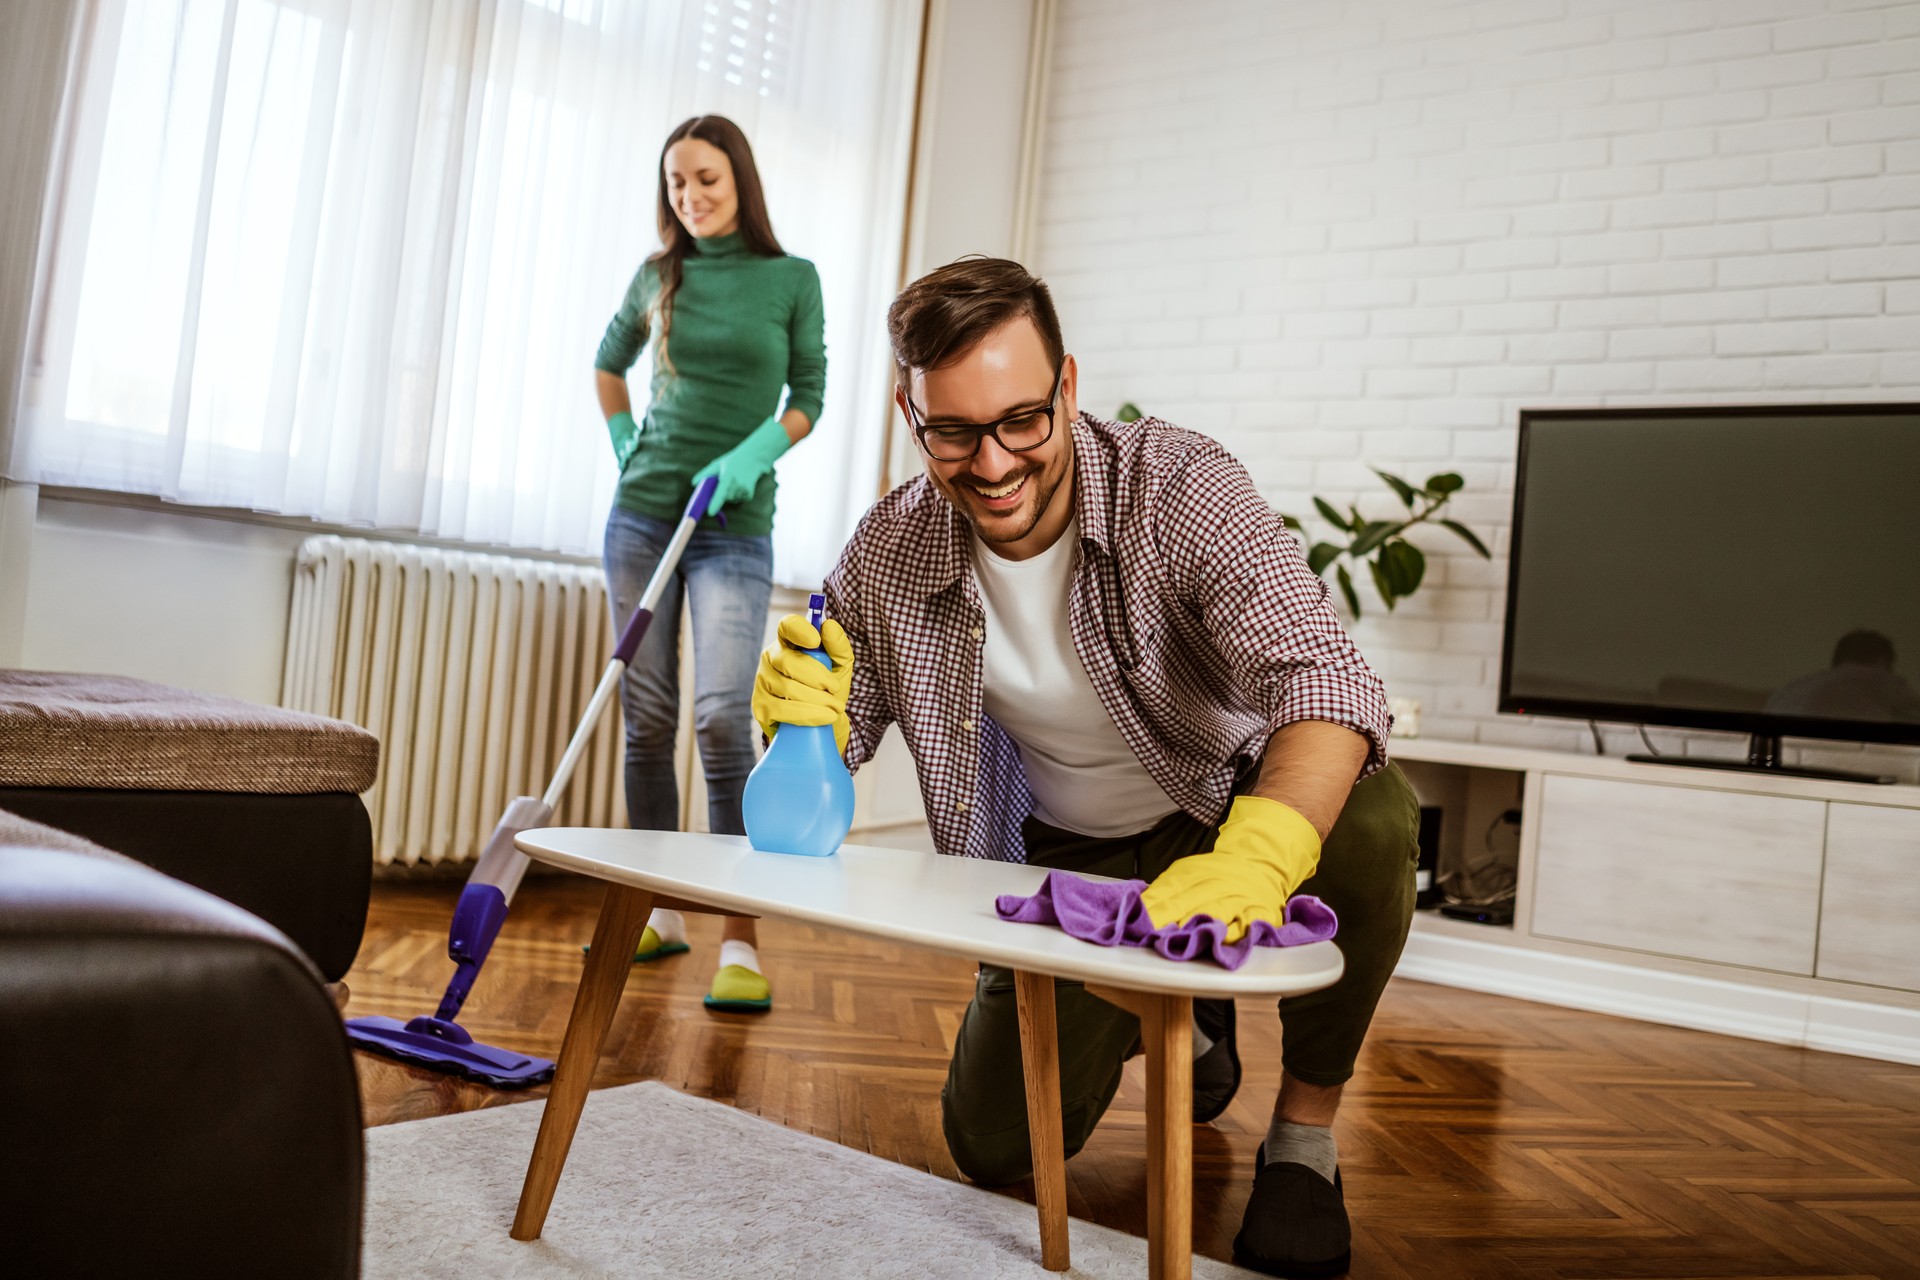
[[1146, 1044], [1146, 1274], [1192, 1276], [1194, 1002], [1087, 983], [1087, 992], [1140, 1019]]

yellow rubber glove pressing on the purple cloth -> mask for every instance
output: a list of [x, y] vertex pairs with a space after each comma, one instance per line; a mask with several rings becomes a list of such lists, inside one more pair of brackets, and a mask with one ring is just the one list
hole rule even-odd
[[1213, 839], [1213, 852], [1181, 858], [1160, 873], [1140, 906], [1156, 929], [1194, 915], [1227, 921], [1238, 942], [1256, 919], [1279, 925], [1286, 898], [1319, 865], [1319, 831], [1279, 800], [1236, 796]]

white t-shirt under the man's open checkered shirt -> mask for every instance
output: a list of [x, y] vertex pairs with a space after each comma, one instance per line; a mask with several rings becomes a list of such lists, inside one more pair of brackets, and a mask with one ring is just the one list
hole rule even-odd
[[1073, 652], [1068, 591], [1079, 520], [1027, 560], [973, 539], [987, 610], [987, 714], [1020, 747], [1035, 818], [1081, 835], [1146, 831], [1179, 806], [1119, 735]]

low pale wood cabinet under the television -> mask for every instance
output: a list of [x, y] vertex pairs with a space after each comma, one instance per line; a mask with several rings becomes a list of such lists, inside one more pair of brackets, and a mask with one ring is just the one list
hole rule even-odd
[[1920, 787], [1394, 739], [1442, 867], [1521, 810], [1513, 925], [1421, 912], [1400, 975], [1920, 1063]]

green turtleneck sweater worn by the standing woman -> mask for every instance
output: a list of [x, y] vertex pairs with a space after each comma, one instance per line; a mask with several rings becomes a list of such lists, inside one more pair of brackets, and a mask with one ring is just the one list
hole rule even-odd
[[[826, 313], [814, 265], [751, 253], [739, 232], [695, 240], [693, 249], [674, 294], [664, 363], [655, 347], [639, 447], [614, 495], [620, 507], [659, 520], [680, 518], [693, 495], [693, 472], [776, 413], [781, 388], [787, 409], [818, 422], [828, 386]], [[647, 345], [659, 292], [653, 265], [641, 265], [607, 324], [595, 368], [626, 376]], [[728, 532], [768, 533], [776, 487], [768, 474], [751, 499], [728, 507]]]

